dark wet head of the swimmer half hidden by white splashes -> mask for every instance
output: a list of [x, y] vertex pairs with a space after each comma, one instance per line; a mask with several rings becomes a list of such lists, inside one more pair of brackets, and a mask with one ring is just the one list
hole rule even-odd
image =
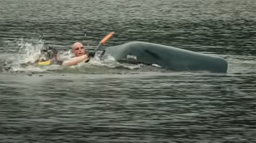
[[47, 61], [56, 58], [58, 51], [53, 47], [43, 47], [40, 51], [39, 61]]

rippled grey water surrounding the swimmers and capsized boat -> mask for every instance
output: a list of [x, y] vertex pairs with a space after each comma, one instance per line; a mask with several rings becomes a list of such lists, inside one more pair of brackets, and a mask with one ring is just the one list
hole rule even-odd
[[[254, 0], [1, 0], [0, 8], [0, 142], [256, 141]], [[222, 57], [228, 71], [20, 65], [40, 34], [65, 53], [75, 41], [93, 49], [110, 31], [106, 46], [169, 45]]]

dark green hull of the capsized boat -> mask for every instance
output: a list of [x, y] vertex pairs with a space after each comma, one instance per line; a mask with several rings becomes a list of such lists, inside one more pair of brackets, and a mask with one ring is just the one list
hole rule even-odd
[[227, 72], [227, 62], [220, 57], [147, 42], [111, 46], [106, 53], [120, 62], [157, 64], [170, 70]]

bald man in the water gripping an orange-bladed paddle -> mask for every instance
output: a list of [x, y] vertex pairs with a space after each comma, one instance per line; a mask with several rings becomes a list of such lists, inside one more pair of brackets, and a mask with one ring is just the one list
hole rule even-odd
[[72, 66], [76, 65], [77, 63], [85, 62], [88, 57], [93, 57], [95, 55], [95, 52], [89, 52], [87, 55], [84, 54], [85, 49], [83, 47], [83, 44], [81, 44], [80, 42], [75, 42], [72, 45], [72, 53], [75, 54], [76, 57], [63, 61], [63, 66]]

